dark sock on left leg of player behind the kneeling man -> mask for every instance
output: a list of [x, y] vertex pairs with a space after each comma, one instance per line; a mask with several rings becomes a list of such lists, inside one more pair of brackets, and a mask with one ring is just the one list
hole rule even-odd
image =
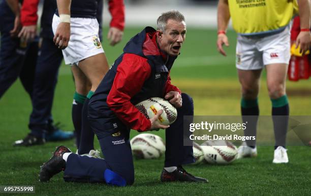
[[75, 92], [74, 100], [72, 103], [71, 116], [72, 116], [72, 122], [75, 128], [76, 145], [78, 149], [80, 145], [80, 136], [81, 136], [82, 107], [83, 107], [83, 103], [85, 99], [86, 99], [86, 96]]

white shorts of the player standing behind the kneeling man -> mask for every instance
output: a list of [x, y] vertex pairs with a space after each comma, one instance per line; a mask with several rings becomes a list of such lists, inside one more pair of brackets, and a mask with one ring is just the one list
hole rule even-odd
[[[54, 14], [52, 29], [55, 34], [59, 24], [59, 17]], [[99, 24], [94, 18], [71, 18], [70, 41], [63, 50], [65, 64], [76, 64], [79, 61], [104, 53], [99, 36]]]

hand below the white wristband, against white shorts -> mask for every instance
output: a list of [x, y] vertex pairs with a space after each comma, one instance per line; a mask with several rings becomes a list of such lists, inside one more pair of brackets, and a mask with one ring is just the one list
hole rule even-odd
[[70, 23], [61, 22], [58, 24], [53, 42], [59, 49], [65, 49], [70, 40]]

